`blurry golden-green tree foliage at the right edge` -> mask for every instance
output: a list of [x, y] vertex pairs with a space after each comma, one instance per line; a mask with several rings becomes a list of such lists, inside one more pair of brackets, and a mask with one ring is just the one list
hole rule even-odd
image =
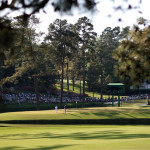
[[[143, 25], [143, 26], [141, 26]], [[150, 79], [150, 25], [143, 18], [138, 19], [128, 36], [121, 41], [114, 52], [118, 61], [116, 69], [121, 78], [139, 85]]]

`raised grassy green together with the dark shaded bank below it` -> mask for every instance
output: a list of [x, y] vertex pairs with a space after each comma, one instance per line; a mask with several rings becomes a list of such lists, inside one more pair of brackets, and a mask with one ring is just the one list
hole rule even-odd
[[128, 101], [121, 107], [58, 107], [52, 110], [6, 112], [0, 122], [20, 124], [150, 124], [150, 107], [146, 100]]

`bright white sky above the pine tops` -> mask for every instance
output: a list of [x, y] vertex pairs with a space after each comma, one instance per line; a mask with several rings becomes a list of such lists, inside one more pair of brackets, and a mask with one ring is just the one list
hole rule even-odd
[[[139, 9], [132, 9], [127, 10], [125, 12], [122, 11], [115, 11], [113, 9], [113, 6], [118, 6], [119, 4], [122, 4], [122, 6], [127, 7], [127, 4], [132, 4], [132, 6], [137, 6], [139, 0], [129, 0], [128, 3], [121, 3], [121, 0], [115, 0], [115, 3], [111, 0], [103, 0], [97, 5], [98, 11], [91, 14], [88, 11], [76, 11], [74, 10], [74, 15], [60, 15], [57, 12], [53, 11], [53, 8], [46, 7], [44, 10], [47, 12], [47, 14], [43, 13], [41, 10], [39, 14], [37, 14], [37, 17], [40, 18], [41, 24], [38, 31], [42, 31], [47, 33], [48, 26], [50, 23], [52, 23], [55, 19], [67, 19], [68, 23], [76, 23], [78, 18], [82, 16], [87, 16], [89, 19], [91, 19], [92, 24], [94, 25], [94, 30], [99, 35], [106, 27], [125, 27], [125, 26], [132, 26], [136, 23], [136, 19], [139, 17], [144, 17], [145, 19], [150, 20], [150, 0], [142, 0], [142, 4], [140, 5]], [[139, 11], [142, 12], [139, 13]], [[108, 15], [111, 14], [111, 17], [108, 17]], [[119, 22], [118, 19], [121, 18], [122, 21]]]

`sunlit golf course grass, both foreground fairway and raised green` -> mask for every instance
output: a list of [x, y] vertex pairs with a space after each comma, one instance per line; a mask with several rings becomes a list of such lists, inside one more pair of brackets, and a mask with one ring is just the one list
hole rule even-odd
[[[126, 125], [128, 119], [133, 124]], [[150, 126], [134, 124], [138, 119], [150, 119], [146, 100], [121, 107], [68, 108], [66, 113], [63, 109], [5, 112], [0, 114], [0, 150], [148, 150]], [[119, 120], [126, 122], [114, 124]]]

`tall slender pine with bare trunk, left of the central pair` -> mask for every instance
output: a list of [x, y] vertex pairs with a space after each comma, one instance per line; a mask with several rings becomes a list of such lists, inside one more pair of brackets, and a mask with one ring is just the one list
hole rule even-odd
[[66, 20], [60, 19], [50, 24], [48, 31], [45, 40], [50, 46], [51, 60], [58, 69], [61, 68], [60, 102], [62, 106], [64, 66], [67, 64], [68, 67], [68, 59], [73, 54], [74, 46], [71, 39], [74, 33], [71, 31], [71, 25]]

